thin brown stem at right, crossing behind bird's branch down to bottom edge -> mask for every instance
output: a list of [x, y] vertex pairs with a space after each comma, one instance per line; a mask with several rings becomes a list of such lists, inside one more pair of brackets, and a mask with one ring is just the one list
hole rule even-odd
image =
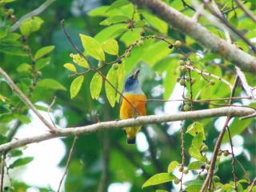
[[[238, 86], [238, 82], [239, 82], [239, 78], [237, 76], [235, 78], [234, 86], [231, 90], [230, 98], [234, 97], [234, 93], [235, 93], [236, 87]], [[229, 104], [231, 104], [231, 103], [232, 103], [232, 99], [230, 99]], [[230, 114], [227, 115], [226, 122], [225, 122], [225, 124], [222, 128], [222, 131], [218, 135], [217, 142], [214, 146], [214, 153], [213, 153], [211, 161], [210, 161], [210, 169], [208, 170], [208, 174], [206, 176], [205, 182], [203, 183], [202, 188], [200, 190], [201, 192], [205, 192], [207, 190], [207, 187], [210, 186], [210, 182], [211, 182], [213, 174], [214, 174], [214, 168], [215, 168], [215, 163], [216, 163], [216, 159], [217, 159], [217, 156], [218, 156], [218, 150], [219, 150], [219, 147], [221, 146], [222, 138], [224, 137], [224, 134], [226, 132], [226, 126], [228, 126], [228, 123], [230, 122], [230, 119], [232, 117], [233, 116], [230, 115]]]

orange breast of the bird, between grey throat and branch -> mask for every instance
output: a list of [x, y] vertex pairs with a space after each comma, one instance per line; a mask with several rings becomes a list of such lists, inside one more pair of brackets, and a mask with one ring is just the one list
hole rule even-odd
[[[146, 115], [146, 96], [145, 94], [124, 94], [124, 97], [138, 110], [139, 115]], [[120, 107], [120, 118], [133, 118], [137, 115], [130, 103], [122, 98]], [[143, 102], [144, 101], [144, 102]]]

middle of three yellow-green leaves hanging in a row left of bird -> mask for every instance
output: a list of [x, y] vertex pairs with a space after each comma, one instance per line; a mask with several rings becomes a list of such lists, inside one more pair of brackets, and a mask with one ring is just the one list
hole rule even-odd
[[99, 94], [102, 90], [102, 76], [98, 73], [94, 74], [94, 77], [90, 82], [90, 94], [91, 98], [98, 99]]

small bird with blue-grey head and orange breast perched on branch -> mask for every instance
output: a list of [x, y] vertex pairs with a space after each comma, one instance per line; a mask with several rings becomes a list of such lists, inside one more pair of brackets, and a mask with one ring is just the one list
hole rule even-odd
[[[138, 115], [146, 115], [146, 95], [143, 93], [141, 86], [138, 82], [139, 70], [136, 70], [134, 74], [130, 75], [126, 79], [123, 96], [120, 106], [120, 118], [134, 118]], [[134, 106], [131, 106], [131, 104]], [[134, 110], [134, 108], [137, 110]], [[141, 126], [129, 126], [125, 127], [127, 143], [134, 144], [136, 142], [136, 134], [140, 130]]]

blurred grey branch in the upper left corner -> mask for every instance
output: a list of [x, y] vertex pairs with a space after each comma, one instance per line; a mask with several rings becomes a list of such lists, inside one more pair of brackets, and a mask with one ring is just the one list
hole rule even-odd
[[14, 32], [15, 30], [17, 30], [18, 27], [22, 24], [22, 22], [25, 21], [27, 18], [32, 18], [38, 14], [41, 14], [53, 2], [55, 2], [55, 0], [47, 0], [46, 2], [43, 2], [42, 5], [39, 6], [37, 9], [32, 10], [30, 13], [23, 15], [22, 18], [18, 19], [18, 21], [15, 22], [14, 25], [10, 27], [10, 32]]

